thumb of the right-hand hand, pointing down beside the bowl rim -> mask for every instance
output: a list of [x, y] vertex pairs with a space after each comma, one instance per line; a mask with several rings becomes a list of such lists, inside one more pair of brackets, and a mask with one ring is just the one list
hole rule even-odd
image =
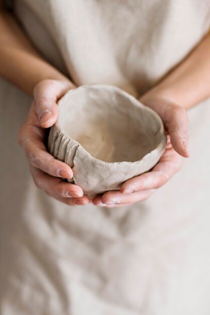
[[178, 105], [169, 107], [165, 125], [171, 137], [171, 144], [182, 156], [189, 157], [188, 147], [188, 117], [184, 108]]

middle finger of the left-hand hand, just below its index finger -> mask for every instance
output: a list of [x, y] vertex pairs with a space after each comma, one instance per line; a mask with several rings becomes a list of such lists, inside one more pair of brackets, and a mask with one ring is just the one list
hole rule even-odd
[[82, 188], [75, 184], [63, 182], [61, 179], [52, 177], [34, 167], [31, 167], [31, 173], [36, 186], [48, 194], [61, 198], [83, 196]]

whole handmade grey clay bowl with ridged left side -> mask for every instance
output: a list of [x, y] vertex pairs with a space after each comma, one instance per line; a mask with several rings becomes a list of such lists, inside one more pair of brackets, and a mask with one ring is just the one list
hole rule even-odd
[[119, 88], [81, 86], [58, 102], [48, 150], [74, 172], [90, 197], [151, 170], [166, 145], [161, 118]]

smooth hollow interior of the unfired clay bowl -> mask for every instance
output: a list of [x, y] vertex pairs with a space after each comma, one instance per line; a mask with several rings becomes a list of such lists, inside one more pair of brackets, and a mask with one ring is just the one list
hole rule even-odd
[[92, 86], [69, 91], [59, 102], [58, 125], [92, 156], [135, 162], [161, 142], [161, 121], [119, 89]]

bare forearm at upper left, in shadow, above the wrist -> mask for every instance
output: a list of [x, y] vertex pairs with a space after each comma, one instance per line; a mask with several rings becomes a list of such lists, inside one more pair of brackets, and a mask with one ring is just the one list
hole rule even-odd
[[0, 75], [33, 94], [36, 84], [45, 79], [68, 80], [35, 50], [15, 18], [0, 10]]

